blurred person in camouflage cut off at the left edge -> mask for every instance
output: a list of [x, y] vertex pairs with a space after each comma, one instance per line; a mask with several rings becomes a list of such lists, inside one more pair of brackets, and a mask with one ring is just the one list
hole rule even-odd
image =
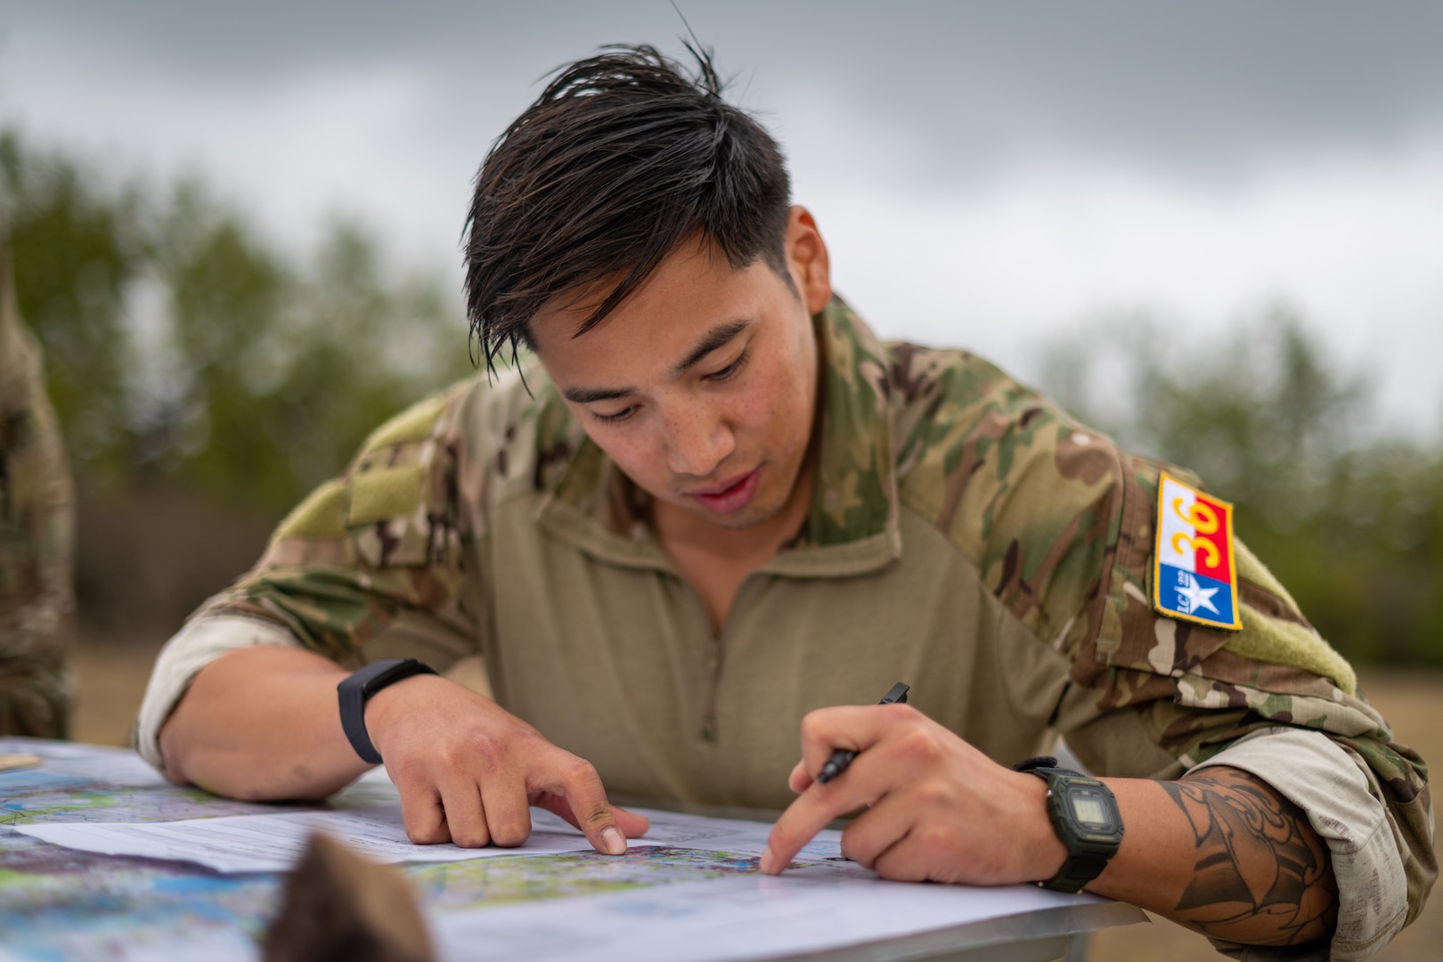
[[0, 225], [0, 734], [69, 727], [71, 482]]

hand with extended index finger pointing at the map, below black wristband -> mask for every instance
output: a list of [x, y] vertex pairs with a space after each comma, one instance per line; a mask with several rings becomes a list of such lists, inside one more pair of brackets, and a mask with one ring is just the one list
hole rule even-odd
[[586, 832], [596, 851], [626, 852], [644, 815], [612, 808], [590, 762], [469, 688], [414, 675], [367, 702], [367, 731], [401, 792], [405, 834], [418, 845], [519, 845], [532, 805]]

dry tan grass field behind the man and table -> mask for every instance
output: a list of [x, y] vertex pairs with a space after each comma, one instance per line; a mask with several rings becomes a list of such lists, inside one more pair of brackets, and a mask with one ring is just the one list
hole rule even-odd
[[[88, 642], [76, 653], [78, 707], [72, 736], [78, 741], [124, 744], [150, 674], [154, 649], [143, 645]], [[1368, 697], [1388, 717], [1397, 737], [1434, 763], [1443, 760], [1443, 674], [1416, 671], [1364, 672]], [[1091, 962], [1206, 962], [1219, 959], [1208, 940], [1179, 926], [1154, 920], [1095, 936]], [[1380, 962], [1443, 961], [1443, 900], [1434, 899], [1411, 927], [1377, 956]]]

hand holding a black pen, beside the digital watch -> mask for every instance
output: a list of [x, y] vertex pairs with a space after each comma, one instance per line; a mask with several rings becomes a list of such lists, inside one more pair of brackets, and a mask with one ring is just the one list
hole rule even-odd
[[[837, 749], [857, 757], [815, 780]], [[843, 852], [899, 881], [1004, 886], [1051, 878], [1066, 851], [1046, 815], [1048, 786], [1004, 769], [909, 705], [823, 708], [802, 720], [799, 798], [772, 828], [762, 871], [779, 874], [835, 818], [866, 809]]]

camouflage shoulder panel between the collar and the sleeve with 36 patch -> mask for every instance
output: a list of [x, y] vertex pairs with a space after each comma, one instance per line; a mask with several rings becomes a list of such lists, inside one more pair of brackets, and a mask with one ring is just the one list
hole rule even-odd
[[902, 503], [1039, 637], [1066, 649], [1095, 635], [1121, 516], [1117, 446], [975, 355], [887, 352]]

